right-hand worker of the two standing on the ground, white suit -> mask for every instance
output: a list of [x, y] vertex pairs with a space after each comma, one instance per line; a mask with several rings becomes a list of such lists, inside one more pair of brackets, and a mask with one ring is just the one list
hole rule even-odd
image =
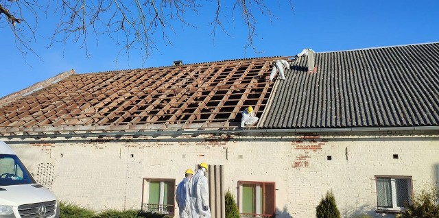
[[198, 165], [198, 171], [193, 175], [191, 180], [191, 198], [192, 198], [192, 217], [193, 218], [211, 218], [211, 208], [209, 208], [209, 184], [204, 175], [209, 170], [205, 162]]

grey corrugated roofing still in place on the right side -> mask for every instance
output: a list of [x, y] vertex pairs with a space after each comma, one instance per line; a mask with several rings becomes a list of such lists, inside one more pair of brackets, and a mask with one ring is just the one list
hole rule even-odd
[[298, 58], [278, 81], [261, 128], [439, 125], [439, 43]]

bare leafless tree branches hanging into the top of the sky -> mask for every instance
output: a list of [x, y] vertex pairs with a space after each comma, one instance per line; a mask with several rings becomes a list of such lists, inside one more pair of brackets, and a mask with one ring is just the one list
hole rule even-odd
[[[271, 20], [270, 7], [280, 5], [286, 1], [293, 10], [292, 0], [264, 1], [264, 0], [0, 0], [0, 28], [6, 31], [9, 27], [15, 36], [17, 49], [24, 55], [32, 48], [40, 16], [59, 19], [53, 34], [49, 36], [50, 45], [54, 43], [80, 43], [86, 49], [88, 38], [93, 35], [104, 35], [112, 38], [120, 51], [128, 51], [134, 47], [141, 49], [145, 58], [150, 56], [156, 47], [154, 36], [160, 36], [165, 43], [171, 43], [168, 34], [175, 33], [174, 25], [181, 23], [193, 27], [193, 23], [186, 17], [198, 14], [203, 4], [213, 1], [216, 11], [212, 12], [211, 26], [213, 38], [219, 27], [226, 34], [228, 31], [223, 25], [222, 14], [224, 8], [232, 10], [232, 19], [235, 13], [248, 29], [246, 48], [255, 49], [253, 38], [257, 29], [256, 13], [261, 13]], [[227, 7], [226, 7], [227, 6]], [[230, 11], [229, 11], [230, 12]], [[38, 54], [37, 54], [38, 55]]]

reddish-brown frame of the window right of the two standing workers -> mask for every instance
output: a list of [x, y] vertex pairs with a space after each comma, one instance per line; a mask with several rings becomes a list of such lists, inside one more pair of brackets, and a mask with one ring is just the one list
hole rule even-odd
[[[261, 214], [259, 214], [259, 213], [254, 213], [254, 214], [257, 214], [257, 215], [261, 215], [261, 217], [275, 217], [276, 216], [276, 182], [259, 182], [259, 181], [238, 181], [238, 197], [237, 197], [237, 204], [238, 204], [238, 209], [239, 209], [239, 214], [240, 215], [242, 215], [243, 214], [243, 199], [242, 199], [242, 197], [243, 197], [243, 193], [242, 193], [242, 191], [243, 191], [243, 184], [250, 184], [250, 185], [259, 185], [259, 186], [261, 186], [261, 192], [262, 192], [262, 198], [263, 199], [265, 199], [265, 197], [267, 197], [266, 195], [265, 195], [265, 184], [270, 184], [270, 185], [272, 185], [273, 186], [273, 202], [272, 202], [272, 204], [273, 204], [273, 208], [272, 208], [272, 211], [273, 211], [273, 213], [272, 214], [265, 214], [265, 209], [266, 209], [266, 202], [263, 200], [263, 199], [261, 199], [263, 202], [261, 203], [262, 204], [262, 208], [261, 208]], [[256, 203], [257, 204], [257, 203]]]

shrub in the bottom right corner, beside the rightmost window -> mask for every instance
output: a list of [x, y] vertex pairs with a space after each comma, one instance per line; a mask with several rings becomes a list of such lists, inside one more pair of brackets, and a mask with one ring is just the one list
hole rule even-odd
[[424, 189], [418, 195], [412, 197], [412, 204], [405, 206], [402, 213], [403, 218], [430, 218], [439, 217], [439, 205], [436, 202], [439, 199], [439, 189], [431, 187]]

